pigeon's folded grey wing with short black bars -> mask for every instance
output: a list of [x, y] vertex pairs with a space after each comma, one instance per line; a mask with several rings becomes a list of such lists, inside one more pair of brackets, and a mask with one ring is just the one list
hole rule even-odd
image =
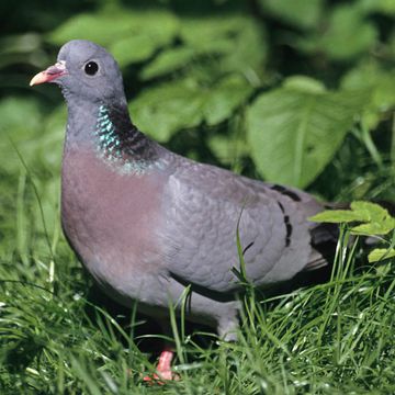
[[239, 287], [239, 235], [247, 276], [271, 285], [303, 270], [312, 253], [312, 224], [321, 210], [308, 194], [267, 184], [184, 158], [174, 166], [163, 193], [162, 239], [169, 272], [214, 292]]

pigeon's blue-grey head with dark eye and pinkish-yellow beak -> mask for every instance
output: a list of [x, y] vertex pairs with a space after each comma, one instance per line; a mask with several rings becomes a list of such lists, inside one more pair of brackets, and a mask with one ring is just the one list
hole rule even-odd
[[57, 63], [33, 77], [31, 86], [43, 82], [60, 86], [68, 101], [125, 101], [119, 65], [103, 47], [86, 40], [66, 43]]

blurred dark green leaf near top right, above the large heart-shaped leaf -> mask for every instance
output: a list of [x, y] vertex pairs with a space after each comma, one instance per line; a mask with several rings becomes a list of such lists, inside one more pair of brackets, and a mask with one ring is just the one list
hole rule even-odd
[[323, 33], [301, 38], [296, 46], [307, 53], [324, 52], [335, 60], [349, 60], [372, 48], [379, 36], [354, 4], [336, 7], [327, 24]]

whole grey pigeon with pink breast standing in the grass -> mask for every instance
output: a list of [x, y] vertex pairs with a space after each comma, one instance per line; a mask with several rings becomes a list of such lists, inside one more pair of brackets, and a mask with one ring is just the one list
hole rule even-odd
[[[234, 340], [245, 289], [271, 289], [329, 264], [332, 228], [308, 218], [325, 204], [179, 156], [131, 121], [120, 68], [103, 47], [66, 43], [31, 86], [67, 102], [61, 224], [79, 260], [113, 300], [166, 321], [169, 304]], [[188, 103], [185, 103], [188, 105]], [[329, 246], [329, 247], [328, 247]], [[180, 303], [188, 291], [188, 303]], [[158, 373], [171, 379], [170, 350]]]

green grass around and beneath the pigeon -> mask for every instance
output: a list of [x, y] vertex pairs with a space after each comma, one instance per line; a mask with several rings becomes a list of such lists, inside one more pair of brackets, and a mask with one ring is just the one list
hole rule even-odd
[[[173, 319], [174, 366], [182, 380], [144, 384], [142, 373], [154, 371], [159, 338], [144, 318], [98, 301], [61, 235], [63, 126], [54, 124], [52, 134], [37, 127], [24, 139], [12, 136], [26, 166], [2, 143], [1, 394], [395, 393], [394, 266], [363, 267], [363, 257], [356, 263], [354, 245], [338, 246], [328, 283], [262, 303], [247, 293], [237, 342], [218, 341], [204, 329], [191, 332]], [[352, 144], [345, 143], [327, 170], [339, 180]], [[362, 185], [370, 196], [379, 185], [369, 174], [380, 180], [391, 171], [385, 160], [380, 169], [359, 167], [366, 153], [361, 161], [352, 159], [357, 165], [347, 177], [359, 178], [358, 193]], [[354, 190], [346, 190], [345, 180], [339, 193], [352, 199]]]

